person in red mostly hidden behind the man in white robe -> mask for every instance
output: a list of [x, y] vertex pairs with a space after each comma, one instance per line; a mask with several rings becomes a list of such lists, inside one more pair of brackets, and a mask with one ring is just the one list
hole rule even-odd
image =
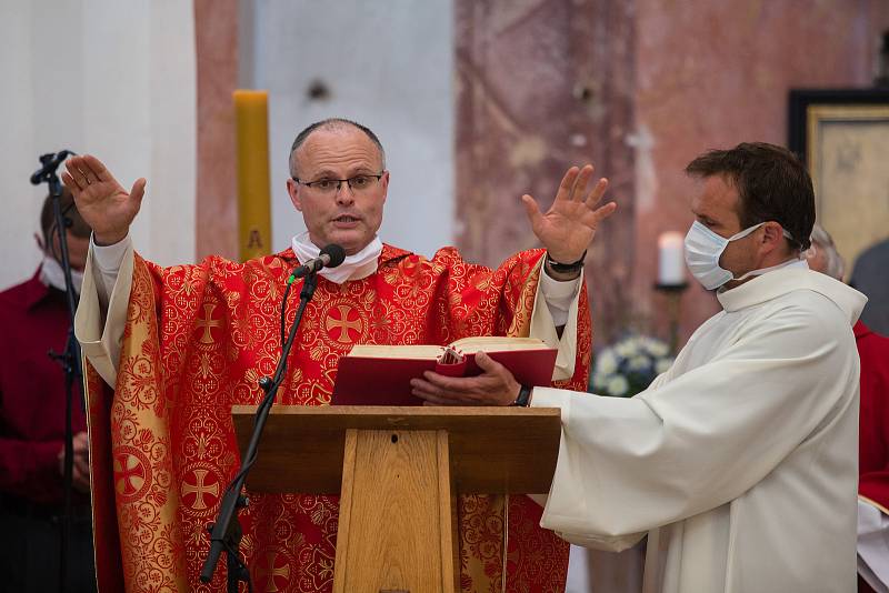
[[[818, 223], [809, 268], [842, 280], [845, 262]], [[852, 328], [861, 359], [858, 433], [858, 591], [889, 591], [889, 338], [861, 320]]]

